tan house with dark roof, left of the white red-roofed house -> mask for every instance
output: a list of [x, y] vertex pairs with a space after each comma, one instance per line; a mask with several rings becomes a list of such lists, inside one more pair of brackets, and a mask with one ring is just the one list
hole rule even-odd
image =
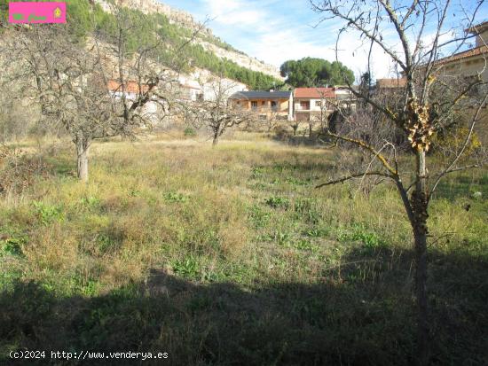
[[293, 93], [291, 91], [238, 91], [229, 97], [234, 108], [256, 113], [262, 121], [293, 120]]

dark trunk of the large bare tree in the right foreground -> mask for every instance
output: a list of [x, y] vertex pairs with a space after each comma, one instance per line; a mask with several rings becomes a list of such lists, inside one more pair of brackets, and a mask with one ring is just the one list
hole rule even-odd
[[416, 183], [412, 196], [413, 206], [413, 238], [415, 249], [415, 294], [417, 298], [417, 352], [419, 364], [427, 365], [429, 362], [429, 319], [427, 303], [427, 227], [428, 200], [427, 200], [427, 169], [425, 165], [425, 151], [416, 152]]

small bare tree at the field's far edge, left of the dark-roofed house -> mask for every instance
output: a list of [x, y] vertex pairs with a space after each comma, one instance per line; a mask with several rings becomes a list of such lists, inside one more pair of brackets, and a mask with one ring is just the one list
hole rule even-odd
[[209, 128], [212, 144], [216, 146], [225, 131], [252, 121], [255, 113], [230, 103], [236, 84], [229, 79], [221, 76], [209, 81], [209, 85], [209, 95], [189, 106], [187, 118], [196, 128]]

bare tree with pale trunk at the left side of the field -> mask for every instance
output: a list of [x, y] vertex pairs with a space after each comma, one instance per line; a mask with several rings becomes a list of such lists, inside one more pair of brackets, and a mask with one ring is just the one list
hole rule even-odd
[[43, 120], [66, 129], [76, 146], [77, 175], [86, 182], [92, 141], [130, 136], [140, 126], [137, 116], [146, 102], [141, 93], [133, 107], [122, 108], [121, 98], [108, 89], [111, 74], [97, 47], [87, 50], [69, 39], [62, 25], [17, 30], [11, 59], [21, 67], [11, 82], [24, 84], [22, 97], [41, 105]]

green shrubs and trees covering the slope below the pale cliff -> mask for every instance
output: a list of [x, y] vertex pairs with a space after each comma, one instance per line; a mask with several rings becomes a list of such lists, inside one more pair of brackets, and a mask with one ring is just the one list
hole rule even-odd
[[[93, 11], [91, 11], [93, 9]], [[153, 44], [156, 36], [159, 35], [164, 40], [166, 47], [158, 49], [157, 58], [161, 64], [173, 65], [174, 51], [179, 49], [188, 39], [193, 36], [193, 32], [185, 27], [171, 24], [169, 19], [160, 13], [144, 14], [137, 10], [123, 8], [124, 12], [132, 19], [138, 19], [138, 23], [144, 27], [137, 27], [130, 32], [129, 50], [137, 51]], [[5, 22], [8, 13], [8, 0], [0, 0], [0, 18]], [[113, 41], [116, 29], [114, 15], [104, 12], [99, 5], [91, 6], [86, 0], [71, 0], [67, 2], [67, 23], [75, 37], [80, 41], [98, 32], [106, 35], [107, 41]], [[197, 40], [202, 39], [209, 43], [214, 43], [226, 50], [232, 47], [216, 37], [197, 35]], [[237, 65], [235, 62], [218, 58], [214, 53], [206, 51], [198, 43], [190, 43], [185, 46], [184, 54], [178, 54], [178, 58], [184, 60], [181, 71], [189, 72], [192, 67], [201, 67], [214, 74], [242, 82], [253, 90], [268, 90], [280, 86], [283, 82], [271, 75], [249, 70], [246, 67]], [[191, 62], [188, 62], [191, 61]]]

